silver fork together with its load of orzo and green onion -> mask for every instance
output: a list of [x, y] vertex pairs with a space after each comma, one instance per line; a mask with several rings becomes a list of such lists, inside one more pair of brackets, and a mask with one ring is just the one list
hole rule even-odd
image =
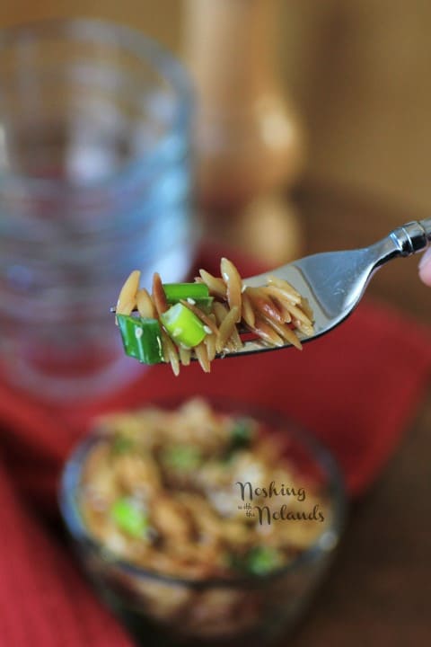
[[[221, 276], [200, 270], [194, 283], [163, 285], [154, 275], [154, 308], [141, 294], [135, 270], [113, 311], [128, 355], [147, 364], [170, 361], [175, 373], [180, 362], [198, 359], [209, 371], [214, 357], [301, 349], [303, 341], [330, 332], [352, 313], [376, 270], [430, 242], [427, 218], [397, 227], [369, 247], [306, 256], [248, 279], [227, 259], [220, 262]], [[166, 336], [171, 353], [163, 350]]]

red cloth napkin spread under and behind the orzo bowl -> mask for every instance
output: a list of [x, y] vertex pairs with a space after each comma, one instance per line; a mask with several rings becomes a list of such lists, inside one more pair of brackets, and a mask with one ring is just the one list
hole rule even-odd
[[[213, 253], [200, 263], [216, 272], [217, 258]], [[245, 276], [256, 270], [233, 260]], [[322, 439], [338, 457], [348, 491], [359, 495], [397, 446], [430, 374], [429, 332], [365, 301], [346, 323], [303, 352], [216, 361], [209, 376], [198, 364], [184, 368], [179, 378], [154, 367], [98, 403], [53, 407], [0, 382], [1, 644], [131, 645], [47, 524], [47, 513], [57, 510], [61, 465], [94, 414], [192, 394], [227, 394], [268, 406]]]

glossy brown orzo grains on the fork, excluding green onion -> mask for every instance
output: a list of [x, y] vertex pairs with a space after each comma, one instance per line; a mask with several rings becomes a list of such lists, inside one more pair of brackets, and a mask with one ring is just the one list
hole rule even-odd
[[[175, 375], [180, 365], [187, 366], [190, 359], [198, 359], [205, 372], [211, 370], [216, 354], [224, 356], [242, 348], [241, 332], [251, 332], [263, 344], [283, 346], [291, 343], [301, 350], [298, 334], [313, 334], [312, 310], [299, 292], [286, 280], [268, 276], [267, 285], [259, 288], [245, 287], [233, 264], [226, 258], [220, 261], [220, 277], [207, 270], [199, 270], [196, 282], [205, 283], [213, 302], [207, 311], [192, 299], [181, 299], [201, 323], [207, 337], [193, 348], [177, 345], [163, 330], [163, 360], [170, 363]], [[133, 271], [119, 294], [118, 315], [130, 315], [137, 309], [143, 317], [159, 318], [169, 308], [159, 274], [154, 273], [152, 296], [139, 288], [140, 272]], [[159, 320], [160, 321], [160, 320]]]

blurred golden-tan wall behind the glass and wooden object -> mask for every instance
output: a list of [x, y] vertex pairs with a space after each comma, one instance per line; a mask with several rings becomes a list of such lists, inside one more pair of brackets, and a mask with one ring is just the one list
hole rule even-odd
[[[306, 123], [306, 175], [429, 209], [431, 4], [282, 0], [278, 12], [277, 65]], [[181, 0], [4, 0], [0, 25], [97, 16], [183, 57], [184, 13]]]

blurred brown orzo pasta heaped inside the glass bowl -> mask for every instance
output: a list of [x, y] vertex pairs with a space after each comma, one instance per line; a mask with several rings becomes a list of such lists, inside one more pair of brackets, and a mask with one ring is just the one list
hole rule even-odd
[[[267, 525], [262, 538], [259, 518], [245, 514], [239, 482], [253, 483], [253, 505], [271, 510], [327, 503], [317, 482], [295, 472], [281, 439], [264, 435], [252, 418], [218, 413], [197, 398], [173, 412], [108, 414], [101, 425], [103, 442], [84, 465], [80, 507], [92, 535], [132, 563], [171, 576], [235, 578], [235, 558], [262, 541], [277, 550], [281, 566], [322, 532], [323, 523], [305, 519]], [[265, 498], [259, 488], [268, 483], [276, 490], [284, 483], [295, 496]], [[137, 535], [112, 515], [124, 499], [145, 513]]]

